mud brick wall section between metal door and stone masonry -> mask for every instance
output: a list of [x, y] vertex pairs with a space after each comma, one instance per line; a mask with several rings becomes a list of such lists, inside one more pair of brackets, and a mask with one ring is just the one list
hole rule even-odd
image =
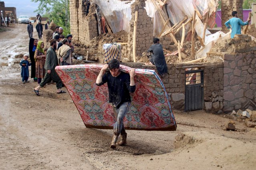
[[204, 68], [204, 109], [207, 112], [222, 112], [223, 83], [223, 63]]

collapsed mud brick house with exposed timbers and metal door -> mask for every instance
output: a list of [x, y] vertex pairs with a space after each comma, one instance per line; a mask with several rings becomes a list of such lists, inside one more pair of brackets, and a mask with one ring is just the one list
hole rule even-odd
[[[218, 0], [70, 0], [71, 34], [76, 52], [104, 62], [103, 45], [121, 45], [121, 61], [148, 65], [147, 49], [160, 39], [169, 75], [162, 81], [173, 109], [213, 113], [256, 109], [255, 27], [243, 35], [212, 32]], [[222, 0], [222, 21], [242, 0]], [[249, 34], [248, 34], [249, 33]], [[136, 62], [136, 63], [133, 63]]]

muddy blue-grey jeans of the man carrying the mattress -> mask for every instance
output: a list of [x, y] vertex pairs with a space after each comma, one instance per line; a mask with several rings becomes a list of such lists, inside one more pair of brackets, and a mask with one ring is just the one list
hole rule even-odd
[[125, 128], [123, 127], [123, 118], [125, 117], [126, 113], [129, 110], [129, 107], [131, 106], [130, 102], [123, 103], [120, 105], [119, 109], [116, 107], [113, 107], [113, 111], [115, 113], [115, 117], [117, 119], [113, 132], [115, 135], [119, 136], [119, 134], [126, 134]]

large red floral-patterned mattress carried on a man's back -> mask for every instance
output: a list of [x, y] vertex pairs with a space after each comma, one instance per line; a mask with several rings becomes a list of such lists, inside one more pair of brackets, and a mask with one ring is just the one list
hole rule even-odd
[[[108, 103], [107, 83], [96, 85], [103, 65], [66, 65], [55, 68], [67, 87], [83, 122], [90, 128], [113, 128], [116, 121]], [[129, 73], [130, 67], [120, 65]], [[125, 129], [176, 130], [177, 125], [165, 87], [155, 70], [135, 69], [135, 93], [124, 118]]]

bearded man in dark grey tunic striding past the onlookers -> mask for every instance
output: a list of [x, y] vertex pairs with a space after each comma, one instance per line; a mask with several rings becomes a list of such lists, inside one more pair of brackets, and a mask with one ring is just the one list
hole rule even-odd
[[56, 83], [57, 93], [66, 93], [63, 90], [60, 90], [62, 88], [62, 81], [55, 71], [55, 67], [58, 65], [58, 58], [55, 50], [56, 50], [56, 40], [52, 39], [50, 40], [50, 47], [46, 52], [46, 61], [44, 65], [44, 69], [46, 70], [46, 73], [44, 75], [44, 78], [42, 79], [42, 82], [36, 88], [34, 88], [34, 92], [38, 96], [40, 96], [39, 89], [41, 87], [44, 87], [47, 83], [50, 83], [52, 80]]

